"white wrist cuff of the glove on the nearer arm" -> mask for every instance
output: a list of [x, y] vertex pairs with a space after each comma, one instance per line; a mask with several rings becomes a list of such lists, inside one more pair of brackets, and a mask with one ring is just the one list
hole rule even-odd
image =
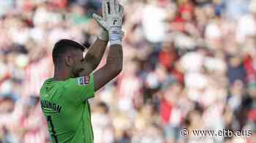
[[123, 33], [121, 27], [112, 27], [109, 32], [110, 46], [111, 45], [121, 45], [121, 40], [123, 39]]

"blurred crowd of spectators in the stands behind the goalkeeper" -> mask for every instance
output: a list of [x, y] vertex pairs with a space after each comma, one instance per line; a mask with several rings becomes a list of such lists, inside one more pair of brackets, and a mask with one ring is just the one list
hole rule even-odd
[[[50, 142], [39, 88], [53, 76], [53, 45], [89, 47], [101, 2], [0, 1], [0, 143]], [[256, 0], [121, 4], [124, 70], [90, 100], [94, 143], [255, 143]], [[182, 128], [252, 136], [182, 138]]]

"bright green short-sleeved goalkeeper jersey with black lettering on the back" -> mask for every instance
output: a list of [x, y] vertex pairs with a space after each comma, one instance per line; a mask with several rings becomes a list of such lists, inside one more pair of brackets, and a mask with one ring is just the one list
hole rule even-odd
[[94, 97], [94, 77], [46, 80], [40, 90], [41, 108], [53, 143], [92, 143], [89, 98]]

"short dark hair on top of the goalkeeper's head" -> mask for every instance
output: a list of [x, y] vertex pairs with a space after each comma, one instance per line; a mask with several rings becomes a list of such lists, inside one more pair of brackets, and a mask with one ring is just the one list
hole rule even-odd
[[61, 39], [53, 47], [53, 63], [56, 64], [59, 61], [61, 55], [67, 53], [67, 51], [72, 49], [78, 49], [84, 51], [86, 47], [80, 45], [78, 42], [72, 41], [70, 39]]

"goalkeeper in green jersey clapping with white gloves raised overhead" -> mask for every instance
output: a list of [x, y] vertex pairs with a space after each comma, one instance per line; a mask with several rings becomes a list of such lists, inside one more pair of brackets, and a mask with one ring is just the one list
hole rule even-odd
[[[84, 47], [77, 42], [61, 39], [54, 45], [54, 76], [40, 90], [42, 112], [53, 143], [94, 142], [88, 99], [122, 70], [123, 12], [124, 7], [117, 0], [102, 1], [102, 17], [93, 15], [102, 28], [101, 33], [84, 57]], [[99, 65], [108, 41], [107, 63], [91, 74]]]

